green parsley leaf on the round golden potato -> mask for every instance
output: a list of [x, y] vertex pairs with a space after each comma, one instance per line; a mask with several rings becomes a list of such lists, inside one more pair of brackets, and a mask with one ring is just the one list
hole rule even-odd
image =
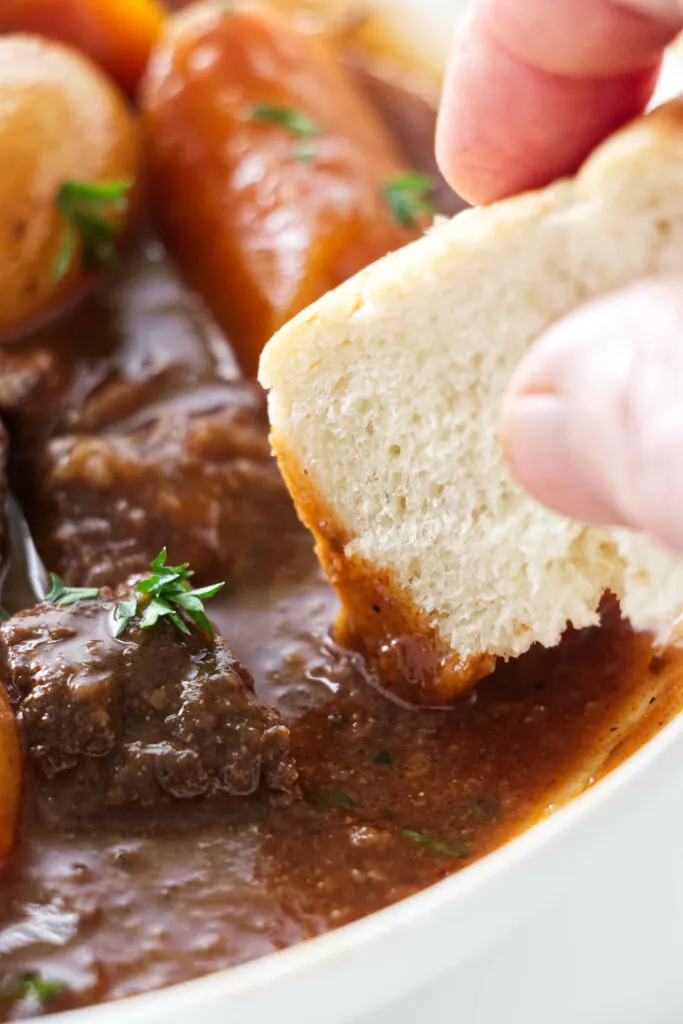
[[132, 181], [65, 181], [55, 204], [65, 231], [52, 264], [52, 279], [61, 281], [74, 262], [79, 240], [86, 270], [112, 267], [118, 261], [117, 234], [128, 211]]

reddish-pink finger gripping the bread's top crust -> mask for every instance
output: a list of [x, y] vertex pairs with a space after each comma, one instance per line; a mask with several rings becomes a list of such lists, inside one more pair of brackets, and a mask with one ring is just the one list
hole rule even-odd
[[445, 177], [488, 203], [573, 172], [644, 110], [682, 28], [679, 0], [479, 0], [444, 82]]

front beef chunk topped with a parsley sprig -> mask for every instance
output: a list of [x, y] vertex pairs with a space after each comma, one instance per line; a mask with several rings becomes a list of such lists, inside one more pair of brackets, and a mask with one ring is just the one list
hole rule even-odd
[[293, 795], [289, 730], [224, 640], [166, 620], [146, 630], [133, 621], [117, 640], [116, 602], [104, 591], [43, 603], [0, 627], [29, 757], [44, 779], [67, 779], [76, 816], [259, 787]]

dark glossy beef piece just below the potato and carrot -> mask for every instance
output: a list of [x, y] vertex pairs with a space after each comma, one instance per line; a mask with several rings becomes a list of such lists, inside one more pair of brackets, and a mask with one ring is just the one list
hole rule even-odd
[[236, 374], [227, 343], [169, 265], [137, 253], [102, 289], [0, 348], [0, 415], [22, 455]]

